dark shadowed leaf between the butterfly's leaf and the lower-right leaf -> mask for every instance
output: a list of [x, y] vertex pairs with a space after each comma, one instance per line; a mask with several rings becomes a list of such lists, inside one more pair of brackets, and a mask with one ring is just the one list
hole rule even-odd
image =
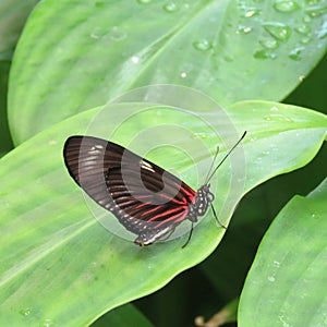
[[326, 160], [325, 144], [304, 168], [278, 175], [242, 198], [218, 249], [198, 266], [223, 303], [240, 296], [257, 247], [281, 208], [294, 194], [307, 194], [325, 179]]

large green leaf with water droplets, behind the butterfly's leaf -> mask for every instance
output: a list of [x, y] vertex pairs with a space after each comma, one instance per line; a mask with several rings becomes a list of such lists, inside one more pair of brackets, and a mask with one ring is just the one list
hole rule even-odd
[[[15, 52], [15, 143], [147, 84], [280, 100], [326, 51], [324, 1], [41, 1]], [[36, 119], [37, 117], [37, 119]]]

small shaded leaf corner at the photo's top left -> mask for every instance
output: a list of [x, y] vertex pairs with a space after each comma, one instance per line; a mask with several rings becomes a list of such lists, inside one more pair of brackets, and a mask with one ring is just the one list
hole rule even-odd
[[37, 0], [1, 0], [0, 2], [0, 59], [11, 58], [25, 21]]

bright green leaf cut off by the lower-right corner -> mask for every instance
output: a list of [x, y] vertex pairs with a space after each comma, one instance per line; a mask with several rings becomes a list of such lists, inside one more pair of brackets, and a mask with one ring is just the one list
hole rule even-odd
[[324, 326], [327, 179], [294, 196], [258, 249], [239, 306], [240, 326]]

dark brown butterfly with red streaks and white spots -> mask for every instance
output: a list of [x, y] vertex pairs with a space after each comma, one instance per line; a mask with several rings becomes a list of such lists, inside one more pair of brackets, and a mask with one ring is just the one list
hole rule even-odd
[[134, 243], [146, 246], [169, 238], [181, 222], [190, 220], [192, 225], [184, 247], [194, 223], [209, 207], [218, 221], [209, 181], [245, 134], [213, 170], [217, 147], [206, 181], [196, 192], [164, 168], [102, 138], [70, 136], [63, 147], [63, 157], [70, 175], [84, 192], [137, 235]]

